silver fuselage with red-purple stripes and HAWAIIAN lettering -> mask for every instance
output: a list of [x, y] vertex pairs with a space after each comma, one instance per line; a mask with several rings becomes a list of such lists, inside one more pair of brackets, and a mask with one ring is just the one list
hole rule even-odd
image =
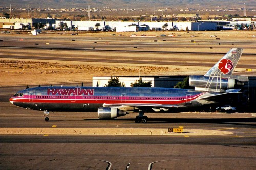
[[42, 111], [97, 111], [106, 105], [196, 107], [206, 92], [174, 88], [35, 87], [10, 98], [14, 105]]

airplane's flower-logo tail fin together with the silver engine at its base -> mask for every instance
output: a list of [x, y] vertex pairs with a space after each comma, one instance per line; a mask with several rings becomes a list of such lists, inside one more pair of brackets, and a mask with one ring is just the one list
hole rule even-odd
[[231, 49], [204, 76], [189, 76], [189, 86], [199, 91], [214, 92], [243, 86], [248, 77], [232, 75], [242, 52], [242, 48]]

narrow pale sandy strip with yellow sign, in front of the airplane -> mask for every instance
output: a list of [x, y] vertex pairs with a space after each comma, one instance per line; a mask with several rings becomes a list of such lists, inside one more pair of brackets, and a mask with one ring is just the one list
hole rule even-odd
[[0, 128], [0, 135], [164, 135], [164, 136], [212, 136], [231, 135], [222, 130], [180, 129], [168, 132], [162, 128]]

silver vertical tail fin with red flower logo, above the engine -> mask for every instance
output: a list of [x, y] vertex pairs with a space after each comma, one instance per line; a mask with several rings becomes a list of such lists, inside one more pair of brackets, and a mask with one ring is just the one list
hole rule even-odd
[[234, 68], [237, 66], [238, 60], [242, 55], [242, 52], [242, 48], [231, 49], [204, 76], [223, 77], [224, 75], [232, 75]]

